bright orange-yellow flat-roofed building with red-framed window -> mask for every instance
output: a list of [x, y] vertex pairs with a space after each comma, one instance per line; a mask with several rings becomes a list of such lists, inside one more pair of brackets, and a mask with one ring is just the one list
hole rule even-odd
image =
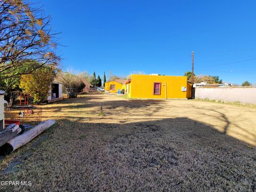
[[186, 76], [131, 75], [125, 84], [130, 98], [191, 98], [191, 84]]

